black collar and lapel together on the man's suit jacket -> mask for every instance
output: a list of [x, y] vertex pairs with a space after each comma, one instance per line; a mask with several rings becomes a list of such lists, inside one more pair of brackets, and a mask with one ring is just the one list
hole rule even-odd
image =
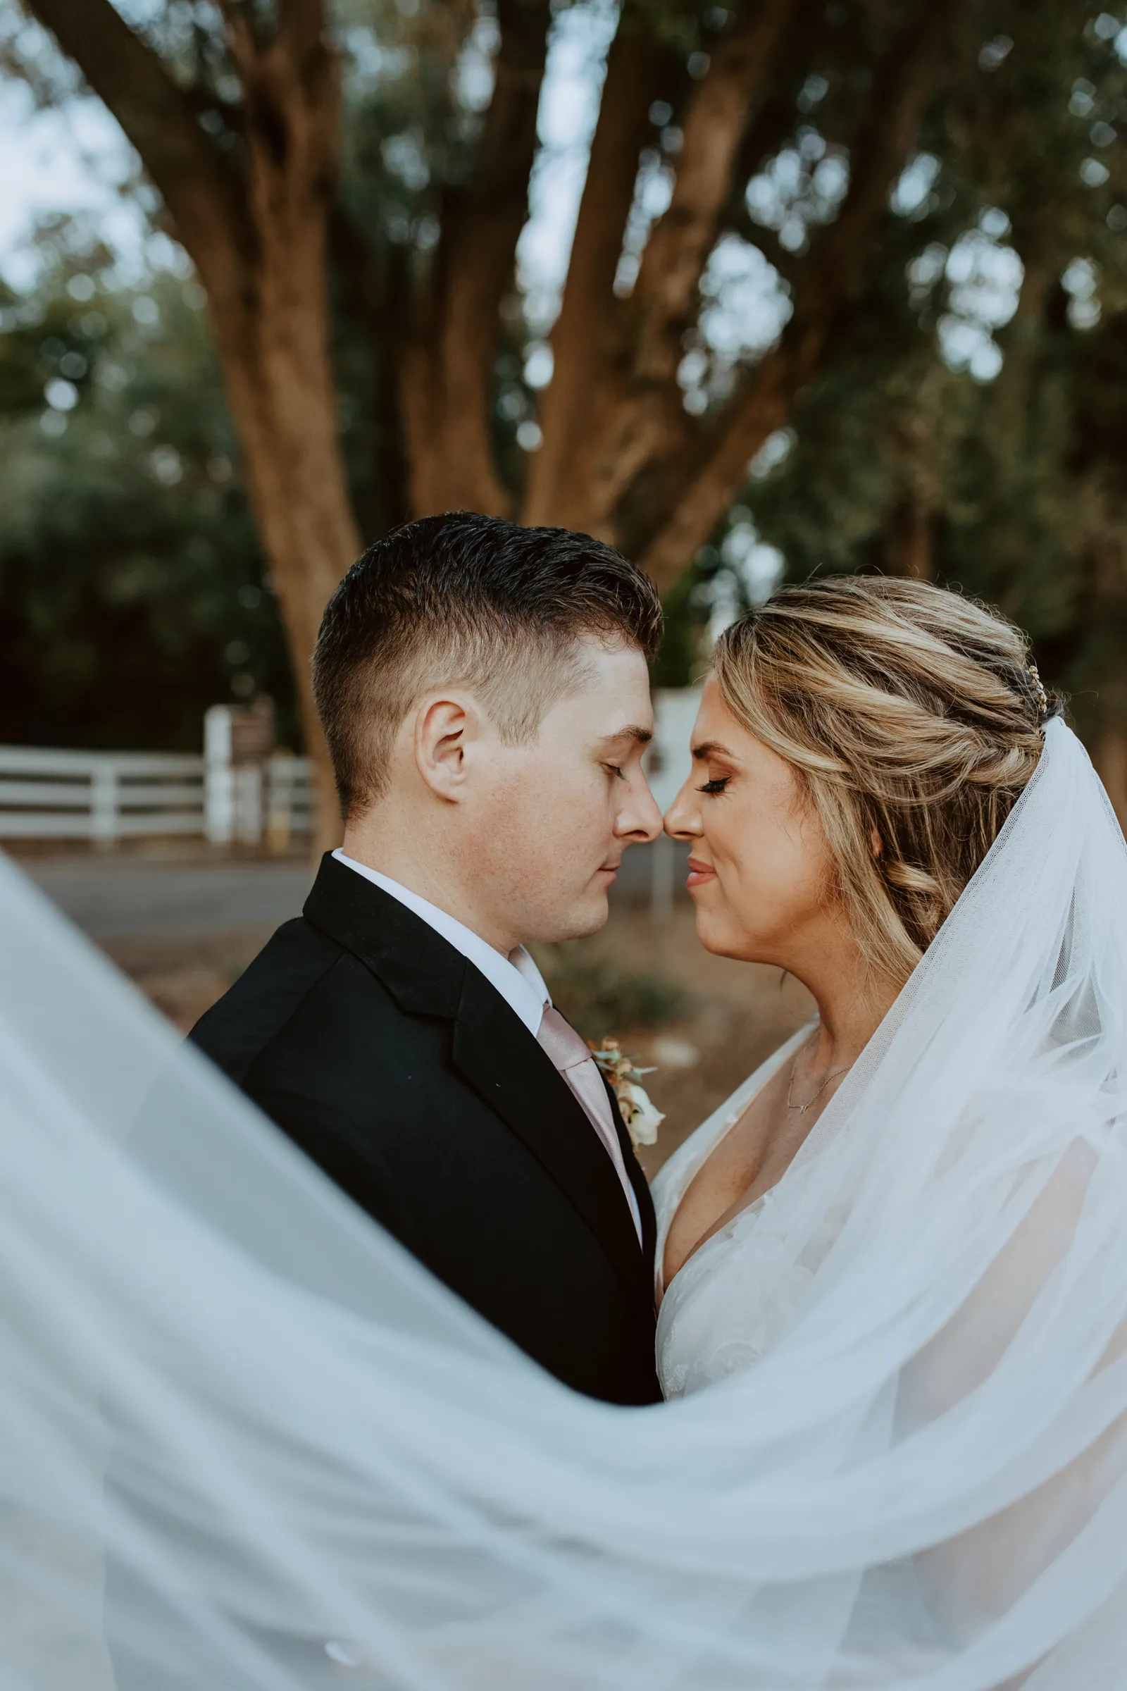
[[[485, 976], [412, 910], [331, 854], [321, 859], [304, 917], [367, 964], [404, 1011], [453, 1020], [455, 1067], [566, 1192], [630, 1292], [645, 1289], [652, 1240], [639, 1250], [610, 1157], [568, 1082]], [[622, 1143], [617, 1104], [613, 1118]], [[649, 1190], [629, 1141], [623, 1155], [645, 1241], [654, 1212]]]

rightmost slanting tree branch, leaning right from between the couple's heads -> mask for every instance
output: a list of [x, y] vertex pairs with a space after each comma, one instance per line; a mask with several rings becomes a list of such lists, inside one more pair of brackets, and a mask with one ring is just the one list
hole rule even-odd
[[659, 585], [676, 580], [738, 492], [750, 458], [786, 423], [796, 394], [825, 360], [835, 320], [860, 279], [872, 230], [887, 208], [945, 63], [945, 47], [968, 0], [917, 0], [890, 44], [872, 93], [872, 120], [852, 161], [838, 220], [804, 265], [796, 311], [781, 343], [755, 365], [694, 453], [669, 465], [667, 516], [644, 555]]

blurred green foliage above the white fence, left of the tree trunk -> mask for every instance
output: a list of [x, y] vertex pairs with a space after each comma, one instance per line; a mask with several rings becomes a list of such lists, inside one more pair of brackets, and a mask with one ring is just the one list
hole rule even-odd
[[196, 749], [257, 692], [292, 739], [201, 291], [117, 286], [66, 235], [0, 299], [0, 741]]

